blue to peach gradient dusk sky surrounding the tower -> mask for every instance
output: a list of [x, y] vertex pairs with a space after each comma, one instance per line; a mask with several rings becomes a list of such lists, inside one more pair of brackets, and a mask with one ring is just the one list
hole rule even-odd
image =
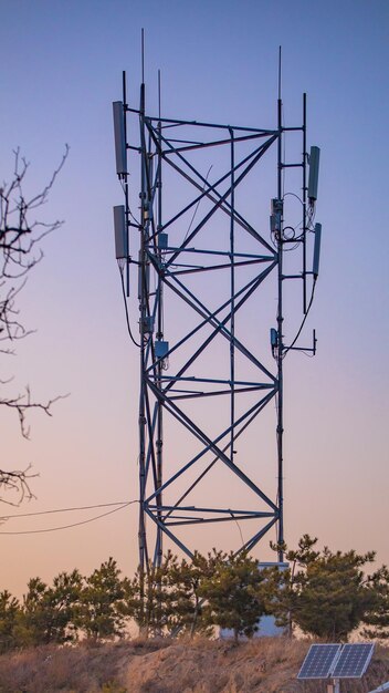
[[[10, 178], [20, 146], [31, 162], [29, 186], [40, 189], [64, 144], [71, 146], [43, 213], [65, 224], [46, 240], [20, 300], [25, 325], [36, 332], [18, 345], [17, 358], [2, 359], [0, 374], [14, 374], [8, 392], [29, 383], [36, 399], [71, 394], [55, 404], [53, 418], [31, 415], [30, 442], [1, 412], [2, 467], [32, 462], [40, 475], [36, 499], [2, 506], [3, 514], [137, 497], [138, 363], [113, 249], [112, 206], [122, 194], [112, 101], [122, 96], [126, 70], [137, 103], [144, 27], [146, 83], [153, 104], [161, 70], [166, 115], [275, 126], [280, 44], [287, 123], [299, 121], [302, 93], [308, 94], [308, 142], [322, 148], [324, 238], [306, 337], [315, 327], [319, 341], [315, 359], [292, 354], [286, 365], [285, 534], [291, 546], [308, 532], [333, 549], [376, 549], [388, 562], [388, 2], [1, 0], [0, 7], [1, 178]], [[3, 524], [0, 589], [21, 594], [32, 576], [50, 581], [74, 567], [87, 573], [111, 555], [132, 573], [136, 505], [73, 529], [2, 534], [97, 514]], [[257, 555], [270, 558], [266, 546]]]

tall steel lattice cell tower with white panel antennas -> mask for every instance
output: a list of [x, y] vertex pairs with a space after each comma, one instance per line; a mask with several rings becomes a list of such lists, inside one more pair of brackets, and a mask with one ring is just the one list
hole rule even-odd
[[[284, 359], [292, 350], [316, 351], [315, 332], [311, 348], [296, 345], [314, 297], [322, 234], [314, 224], [319, 149], [307, 152], [306, 95], [302, 125], [285, 126], [278, 89], [274, 128], [165, 117], [159, 74], [157, 104], [149, 113], [144, 77], [139, 107], [128, 104], [123, 73], [123, 100], [113, 108], [125, 200], [114, 207], [114, 221], [127, 327], [140, 360], [134, 455], [140, 571], [160, 565], [164, 536], [192, 556], [200, 529], [235, 523], [241, 532], [243, 520], [250, 538], [241, 532], [235, 552], [251, 551], [275, 528], [282, 561]], [[294, 161], [285, 158], [288, 137]], [[264, 162], [273, 176], [261, 174]], [[262, 201], [267, 188], [270, 219]], [[135, 210], [130, 199], [138, 195]], [[291, 203], [297, 224], [287, 219]], [[137, 238], [134, 251], [130, 238], [133, 245]], [[297, 289], [302, 316], [288, 341], [286, 285]], [[133, 302], [139, 335], [130, 324]], [[274, 318], [267, 306], [276, 307]], [[274, 415], [272, 402], [275, 422], [269, 430], [267, 417], [260, 435], [261, 417], [267, 410]], [[273, 457], [261, 453], [265, 438]]]

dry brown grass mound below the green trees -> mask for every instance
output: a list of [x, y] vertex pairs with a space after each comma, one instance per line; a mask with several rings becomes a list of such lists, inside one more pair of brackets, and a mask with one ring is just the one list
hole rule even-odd
[[[298, 682], [308, 642], [261, 638], [134, 640], [77, 648], [38, 648], [0, 656], [0, 693], [326, 693]], [[367, 693], [389, 680], [389, 650], [377, 648], [361, 681], [341, 693]]]

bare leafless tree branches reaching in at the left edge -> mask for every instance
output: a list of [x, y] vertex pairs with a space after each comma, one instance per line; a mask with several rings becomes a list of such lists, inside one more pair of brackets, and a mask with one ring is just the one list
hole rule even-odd
[[[20, 321], [18, 297], [25, 286], [29, 272], [43, 258], [42, 240], [63, 224], [60, 220], [44, 223], [38, 220], [35, 215], [36, 210], [46, 204], [67, 154], [69, 146], [66, 145], [61, 163], [48, 185], [40, 193], [29, 197], [24, 193], [29, 164], [17, 149], [12, 179], [0, 187], [0, 354], [3, 355], [13, 354], [14, 342], [30, 333]], [[9, 385], [11, 380], [0, 380], [0, 386]], [[46, 403], [35, 402], [31, 396], [30, 387], [27, 386], [23, 393], [14, 396], [0, 395], [0, 406], [15, 412], [21, 434], [28, 438], [30, 434], [27, 422], [29, 410], [42, 410], [51, 416], [52, 404], [57, 399], [49, 400]], [[34, 476], [31, 473], [31, 465], [25, 469], [11, 472], [3, 469], [2, 466], [0, 463], [0, 493], [15, 492], [18, 501], [12, 505], [19, 505], [23, 498], [31, 498], [30, 479]], [[3, 497], [0, 497], [0, 500], [11, 503]]]

